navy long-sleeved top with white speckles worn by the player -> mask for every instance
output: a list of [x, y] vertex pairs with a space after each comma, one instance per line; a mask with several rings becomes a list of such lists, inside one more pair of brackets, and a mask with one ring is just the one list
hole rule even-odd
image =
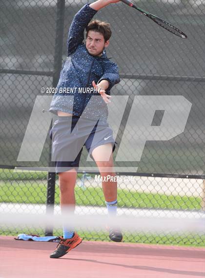
[[[107, 58], [105, 50], [102, 56], [92, 56], [87, 51], [85, 43], [82, 43], [84, 29], [96, 13], [97, 11], [90, 8], [87, 3], [71, 23], [67, 39], [67, 58], [62, 66], [57, 92], [49, 109], [52, 113], [57, 114], [59, 110], [80, 117], [89, 102], [87, 106], [89, 108], [86, 107], [83, 117], [107, 119], [108, 108], [102, 97], [97, 97], [97, 101], [96, 98], [92, 99], [92, 96], [100, 95], [94, 90], [92, 81], [97, 84], [106, 79], [109, 82], [106, 94], [110, 95], [110, 89], [120, 82], [120, 78], [117, 64]], [[63, 88], [67, 88], [67, 91], [63, 91]], [[90, 92], [89, 89], [83, 92], [82, 88], [90, 88]]]

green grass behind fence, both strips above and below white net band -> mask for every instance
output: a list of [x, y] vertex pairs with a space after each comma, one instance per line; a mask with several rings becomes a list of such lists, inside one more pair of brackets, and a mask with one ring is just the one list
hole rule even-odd
[[[79, 175], [79, 177], [82, 174]], [[47, 194], [46, 172], [13, 172], [0, 170], [0, 199], [1, 202], [45, 204]], [[77, 205], [105, 206], [101, 188], [88, 187], [86, 190], [76, 187]], [[59, 187], [56, 186], [55, 203], [59, 204]], [[152, 194], [133, 192], [126, 189], [118, 189], [118, 206], [127, 208], [153, 208], [170, 210], [200, 210], [200, 197], [174, 196], [165, 194]], [[32, 227], [10, 228], [1, 227], [1, 235], [38, 234], [43, 236], [42, 229]], [[107, 233], [103, 231], [78, 231], [86, 240], [108, 241]], [[62, 235], [61, 230], [55, 230], [54, 235]], [[204, 246], [205, 235], [154, 235], [154, 234], [130, 234], [124, 233], [124, 242]]]

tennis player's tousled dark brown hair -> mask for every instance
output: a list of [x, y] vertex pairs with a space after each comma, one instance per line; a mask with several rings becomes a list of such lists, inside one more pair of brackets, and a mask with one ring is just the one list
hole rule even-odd
[[86, 38], [87, 38], [87, 33], [90, 30], [101, 33], [105, 42], [109, 40], [112, 34], [110, 29], [110, 23], [100, 21], [100, 20], [93, 20], [87, 25]]

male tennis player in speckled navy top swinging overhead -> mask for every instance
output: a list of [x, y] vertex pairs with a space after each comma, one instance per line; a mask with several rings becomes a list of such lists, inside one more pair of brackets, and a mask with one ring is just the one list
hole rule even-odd
[[[62, 213], [67, 206], [73, 212], [75, 210], [74, 188], [83, 145], [101, 173], [108, 215], [117, 213], [117, 182], [114, 181], [116, 174], [112, 157], [115, 141], [112, 129], [107, 124], [107, 104], [110, 102], [110, 89], [120, 82], [120, 78], [117, 64], [111, 62], [105, 53], [111, 36], [109, 23], [90, 21], [98, 10], [119, 1], [97, 0], [92, 4], [87, 3], [75, 15], [69, 29], [67, 58], [62, 67], [58, 92], [49, 109], [58, 115], [50, 137], [56, 173], [59, 174]], [[67, 161], [68, 156], [73, 159]], [[106, 179], [108, 175], [113, 180]], [[82, 242], [71, 225], [64, 225], [63, 237], [60, 237], [51, 258], [64, 256]], [[123, 239], [121, 231], [112, 227], [109, 227], [109, 237], [117, 242]]]

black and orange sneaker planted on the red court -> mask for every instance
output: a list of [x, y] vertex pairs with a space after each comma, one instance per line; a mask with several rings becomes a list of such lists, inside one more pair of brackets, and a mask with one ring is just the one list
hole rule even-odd
[[60, 242], [56, 250], [50, 255], [50, 258], [62, 257], [82, 242], [82, 238], [77, 233], [74, 233], [72, 238], [64, 239], [59, 236], [57, 239], [60, 239]]

